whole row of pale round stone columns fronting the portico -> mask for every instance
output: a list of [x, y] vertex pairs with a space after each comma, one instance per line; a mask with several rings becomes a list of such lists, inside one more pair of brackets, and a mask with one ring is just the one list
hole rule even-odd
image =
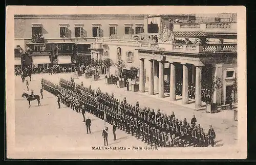
[[[154, 88], [158, 88], [158, 97], [164, 97], [164, 64], [170, 64], [170, 101], [176, 100], [176, 62], [168, 62], [163, 60], [152, 60], [152, 59], [144, 59], [140, 58], [140, 92], [145, 92], [144, 85], [144, 67], [145, 60], [149, 62], [148, 72], [148, 94], [154, 95]], [[183, 65], [183, 78], [182, 78], [182, 103], [188, 104], [188, 65], [187, 63], [179, 63]], [[192, 82], [196, 84], [196, 92], [195, 92], [195, 100], [196, 100], [196, 108], [201, 107], [201, 79], [202, 79], [202, 66], [195, 66], [193, 68], [193, 78]], [[196, 72], [196, 73], [195, 73]], [[195, 76], [196, 74], [196, 76]], [[157, 78], [155, 78], [157, 76]], [[194, 78], [194, 76], [196, 78]], [[158, 81], [158, 82], [155, 82]], [[155, 84], [155, 85], [154, 85]]]

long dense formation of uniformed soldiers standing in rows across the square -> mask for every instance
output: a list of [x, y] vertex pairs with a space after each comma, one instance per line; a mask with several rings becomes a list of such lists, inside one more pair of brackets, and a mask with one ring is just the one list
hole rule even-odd
[[60, 79], [60, 85], [46, 79], [42, 79], [41, 83], [42, 88], [58, 96], [63, 104], [77, 113], [81, 112], [83, 122], [87, 111], [155, 147], [214, 146], [214, 129], [210, 126], [208, 133], [205, 133], [195, 116], [189, 123], [186, 118], [177, 119], [174, 113], [166, 115], [160, 109], [155, 113], [154, 109], [140, 107], [138, 101], [130, 104], [125, 97], [120, 101], [113, 93], [103, 93], [99, 88], [93, 90], [91, 86], [75, 85], [72, 78], [70, 81]]

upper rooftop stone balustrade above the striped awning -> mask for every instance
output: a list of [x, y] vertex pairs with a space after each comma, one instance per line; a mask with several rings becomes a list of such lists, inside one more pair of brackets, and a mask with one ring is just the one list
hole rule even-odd
[[175, 23], [173, 26], [173, 31], [202, 31], [204, 33], [237, 33], [237, 23]]

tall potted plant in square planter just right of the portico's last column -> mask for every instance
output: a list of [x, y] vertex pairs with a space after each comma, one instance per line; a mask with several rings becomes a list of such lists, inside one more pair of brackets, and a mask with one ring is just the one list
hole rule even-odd
[[217, 108], [218, 108], [218, 105], [217, 103], [214, 101], [214, 92], [216, 90], [219, 90], [222, 88], [222, 81], [221, 81], [221, 78], [219, 77], [213, 77], [212, 78], [212, 82], [210, 84], [210, 99], [208, 102], [206, 102], [206, 112], [209, 112], [209, 113], [215, 113], [217, 112]]

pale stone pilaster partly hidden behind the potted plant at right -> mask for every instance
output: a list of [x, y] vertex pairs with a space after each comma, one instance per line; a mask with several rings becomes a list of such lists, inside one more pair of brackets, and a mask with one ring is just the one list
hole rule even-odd
[[[221, 79], [221, 81], [222, 81], [222, 66], [223, 66], [224, 64], [215, 64], [214, 65], [214, 69], [213, 69], [213, 74], [214, 74], [214, 77], [218, 77], [218, 78], [220, 78]], [[214, 103], [217, 103], [217, 104], [221, 104], [222, 103], [222, 88], [221, 89], [216, 89], [215, 91], [214, 91], [214, 93], [213, 93], [213, 102]], [[226, 98], [224, 98], [224, 99], [226, 99]]]

